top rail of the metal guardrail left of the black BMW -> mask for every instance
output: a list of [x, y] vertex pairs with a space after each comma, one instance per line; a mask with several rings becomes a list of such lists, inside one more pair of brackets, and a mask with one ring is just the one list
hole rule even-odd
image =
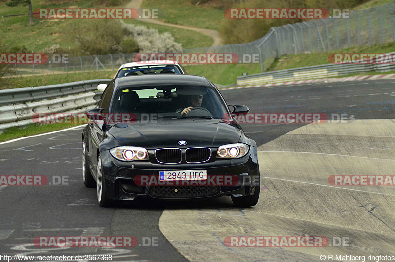
[[0, 90], [0, 106], [90, 92], [96, 90], [98, 84], [107, 84], [110, 81], [110, 79], [94, 79], [41, 87], [4, 89]]

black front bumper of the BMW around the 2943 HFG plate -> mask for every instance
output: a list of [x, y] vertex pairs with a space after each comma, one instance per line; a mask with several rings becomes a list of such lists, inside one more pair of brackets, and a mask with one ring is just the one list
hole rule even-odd
[[[108, 150], [101, 152], [103, 178], [110, 199], [134, 200], [136, 197], [156, 199], [188, 200], [210, 199], [222, 195], [240, 197], [251, 195], [254, 184], [259, 179], [256, 147], [239, 159], [215, 160], [199, 164], [159, 164], [150, 162], [122, 162], [111, 156]], [[207, 170], [207, 176], [235, 175], [240, 183], [225, 185], [136, 185], [133, 179], [137, 175], [159, 176], [163, 170]], [[259, 189], [258, 189], [259, 190]]]

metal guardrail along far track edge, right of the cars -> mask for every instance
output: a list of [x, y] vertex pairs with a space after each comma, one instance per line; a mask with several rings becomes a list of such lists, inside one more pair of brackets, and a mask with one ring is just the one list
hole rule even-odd
[[[389, 54], [395, 54], [389, 53]], [[395, 70], [395, 64], [325, 64], [237, 77], [237, 86], [261, 85], [303, 79], [335, 77], [363, 72]]]

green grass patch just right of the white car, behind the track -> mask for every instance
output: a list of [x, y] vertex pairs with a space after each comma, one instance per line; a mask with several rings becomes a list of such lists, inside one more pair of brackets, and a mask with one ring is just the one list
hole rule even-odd
[[248, 75], [261, 72], [260, 64], [223, 64], [223, 65], [191, 65], [184, 66], [188, 74], [205, 76], [215, 84], [230, 85], [236, 77], [246, 72]]

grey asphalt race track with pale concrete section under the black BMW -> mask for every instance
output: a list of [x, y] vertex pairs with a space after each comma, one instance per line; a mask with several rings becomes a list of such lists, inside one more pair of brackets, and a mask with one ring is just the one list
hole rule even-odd
[[[395, 175], [394, 84], [372, 80], [222, 91], [228, 104], [245, 104], [252, 113], [352, 116], [345, 123], [243, 124], [259, 145], [261, 172], [260, 201], [248, 209], [233, 207], [225, 197], [100, 208], [96, 190], [82, 182], [81, 127], [2, 143], [1, 175], [46, 175], [51, 184], [0, 186], [0, 254], [111, 254], [112, 261], [395, 256], [394, 187], [328, 182], [331, 175]], [[57, 185], [62, 177], [67, 181]], [[140, 246], [43, 248], [33, 244], [38, 236], [135, 236]], [[228, 236], [322, 236], [329, 243], [229, 247]], [[144, 246], [147, 239], [158, 245]]]

